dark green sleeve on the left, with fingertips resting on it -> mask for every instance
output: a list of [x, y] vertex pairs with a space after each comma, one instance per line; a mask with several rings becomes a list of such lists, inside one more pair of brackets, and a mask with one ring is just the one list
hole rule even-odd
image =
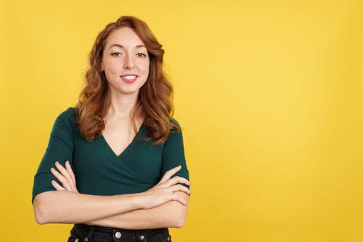
[[56, 161], [64, 165], [68, 160], [72, 164], [74, 129], [75, 111], [72, 108], [69, 108], [61, 113], [53, 124], [48, 147], [41, 159], [37, 174], [35, 174], [34, 177], [32, 200], [41, 192], [55, 190], [50, 184], [50, 181], [57, 179], [50, 173], [50, 168], [55, 166]]

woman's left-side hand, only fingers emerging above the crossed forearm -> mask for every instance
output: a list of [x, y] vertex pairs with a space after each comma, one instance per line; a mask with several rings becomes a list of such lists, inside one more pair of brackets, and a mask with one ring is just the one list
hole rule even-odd
[[75, 174], [72, 171], [72, 167], [69, 164], [68, 160], [66, 161], [66, 166], [63, 167], [59, 164], [59, 162], [55, 162], [55, 168], [51, 168], [50, 172], [55, 176], [59, 182], [62, 183], [62, 186], [59, 185], [55, 180], [52, 180], [53, 187], [57, 191], [69, 191], [69, 192], [78, 192], [77, 187], [75, 185]]

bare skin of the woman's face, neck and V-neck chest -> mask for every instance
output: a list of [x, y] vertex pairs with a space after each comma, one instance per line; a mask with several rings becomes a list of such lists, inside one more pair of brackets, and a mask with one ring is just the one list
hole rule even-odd
[[[131, 28], [115, 30], [106, 39], [102, 70], [109, 82], [111, 108], [106, 115], [106, 127], [102, 131], [106, 142], [119, 156], [136, 135], [131, 129], [132, 111], [136, 106], [138, 92], [149, 75], [149, 55], [141, 39]], [[127, 75], [136, 80], [125, 82]], [[140, 129], [142, 118], [135, 118]]]

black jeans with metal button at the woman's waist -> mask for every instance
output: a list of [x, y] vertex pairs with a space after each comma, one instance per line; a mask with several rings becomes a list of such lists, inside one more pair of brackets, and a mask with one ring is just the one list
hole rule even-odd
[[68, 242], [171, 242], [168, 229], [121, 230], [112, 227], [75, 224]]

